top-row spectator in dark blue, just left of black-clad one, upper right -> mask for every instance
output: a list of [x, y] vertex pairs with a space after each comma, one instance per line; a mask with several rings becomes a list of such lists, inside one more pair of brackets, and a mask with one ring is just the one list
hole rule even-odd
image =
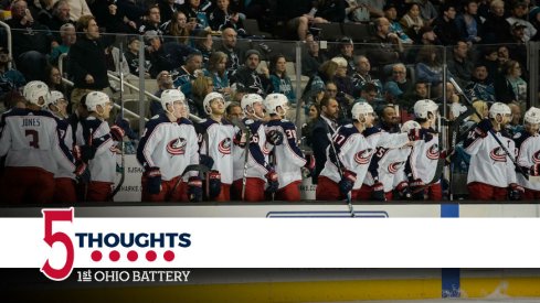
[[466, 0], [463, 4], [463, 12], [456, 17], [456, 25], [459, 37], [467, 43], [480, 43], [481, 41], [481, 20], [477, 14], [477, 0]]

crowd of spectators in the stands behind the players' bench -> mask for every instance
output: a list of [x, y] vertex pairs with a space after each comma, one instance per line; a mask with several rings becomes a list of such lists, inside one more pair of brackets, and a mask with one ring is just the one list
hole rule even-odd
[[[304, 107], [296, 110], [305, 111], [306, 118], [296, 123], [305, 120], [304, 136], [317, 152], [316, 141], [322, 138], [315, 133], [321, 117], [335, 129], [350, 121], [353, 105], [361, 101], [374, 108], [388, 131], [413, 119], [412, 106], [421, 99], [447, 104], [447, 118], [457, 119], [466, 110], [458, 88], [486, 107], [499, 101], [510, 105], [515, 117], [525, 112], [531, 105], [527, 45], [540, 41], [539, 4], [534, 0], [3, 1], [0, 9], [11, 44], [2, 28], [0, 98], [6, 108], [17, 107], [22, 87], [42, 80], [63, 93], [68, 111], [75, 112], [91, 91], [118, 100], [121, 87], [109, 80], [109, 73], [133, 79], [144, 75], [156, 80], [158, 90], [150, 93], [158, 98], [167, 89], [180, 89], [189, 111], [205, 118], [203, 100], [212, 91], [223, 94], [226, 104], [245, 94], [264, 98], [280, 93], [293, 107], [303, 100]], [[248, 20], [256, 20], [260, 31], [248, 29]], [[331, 23], [369, 30], [361, 39], [336, 35], [327, 47], [320, 40]], [[287, 63], [296, 57], [269, 47], [272, 40], [303, 42], [300, 72], [306, 83], [287, 74]], [[459, 87], [443, 82], [445, 72]], [[149, 109], [152, 116], [162, 110], [153, 100]]]

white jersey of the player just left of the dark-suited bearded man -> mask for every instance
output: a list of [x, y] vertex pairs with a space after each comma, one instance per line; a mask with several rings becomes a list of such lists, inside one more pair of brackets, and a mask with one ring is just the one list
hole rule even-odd
[[296, 138], [296, 126], [288, 120], [271, 120], [266, 123], [266, 132], [277, 130], [283, 133], [283, 143], [274, 147], [266, 142], [275, 159], [275, 170], [279, 188], [295, 181], [301, 181], [301, 167], [306, 165], [304, 153], [298, 148]]

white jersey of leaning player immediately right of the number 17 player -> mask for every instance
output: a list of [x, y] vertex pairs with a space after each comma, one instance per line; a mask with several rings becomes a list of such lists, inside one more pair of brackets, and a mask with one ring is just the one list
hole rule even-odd
[[400, 182], [406, 181], [404, 170], [411, 150], [410, 147], [399, 149], [377, 149], [377, 153], [371, 159], [370, 169], [363, 180], [363, 184], [370, 186], [373, 185], [373, 176], [378, 176], [379, 182], [384, 185], [384, 192], [388, 193], [395, 188]]

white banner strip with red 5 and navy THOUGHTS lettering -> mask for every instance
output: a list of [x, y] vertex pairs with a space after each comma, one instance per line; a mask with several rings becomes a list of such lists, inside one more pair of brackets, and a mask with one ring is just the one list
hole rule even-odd
[[0, 268], [540, 267], [537, 218], [70, 221], [70, 209], [47, 212], [47, 218], [0, 218]]

